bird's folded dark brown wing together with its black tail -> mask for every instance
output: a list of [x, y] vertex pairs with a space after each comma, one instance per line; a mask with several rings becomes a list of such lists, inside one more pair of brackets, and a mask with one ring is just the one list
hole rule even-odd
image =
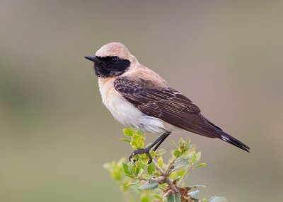
[[221, 138], [238, 148], [247, 150], [248, 146], [203, 117], [200, 108], [177, 90], [152, 88], [149, 83], [150, 81], [139, 81], [125, 76], [115, 80], [114, 88], [144, 114], [202, 136]]

